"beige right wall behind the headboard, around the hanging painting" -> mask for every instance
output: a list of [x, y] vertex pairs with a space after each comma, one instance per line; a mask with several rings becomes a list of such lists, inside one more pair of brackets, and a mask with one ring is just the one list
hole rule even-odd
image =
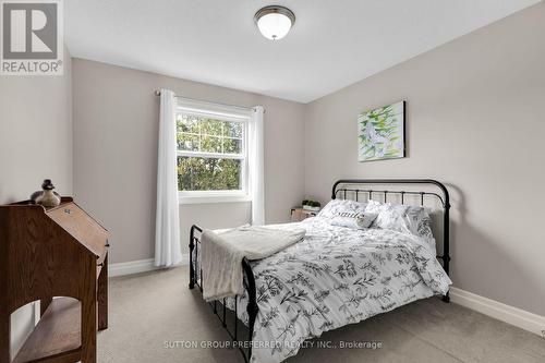
[[[408, 101], [408, 158], [358, 162], [356, 116]], [[305, 191], [435, 178], [452, 194], [452, 279], [545, 315], [545, 4], [307, 106]]]

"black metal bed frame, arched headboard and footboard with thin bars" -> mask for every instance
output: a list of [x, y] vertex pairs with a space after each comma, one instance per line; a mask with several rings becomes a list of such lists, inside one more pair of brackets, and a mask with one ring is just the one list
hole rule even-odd
[[[349, 185], [349, 187], [339, 187], [339, 185]], [[441, 195], [435, 193], [435, 192], [423, 192], [423, 191], [391, 191], [391, 190], [373, 190], [373, 189], [360, 189], [356, 187], [355, 185], [386, 185], [386, 184], [401, 184], [401, 185], [410, 185], [410, 184], [420, 184], [420, 185], [434, 185], [437, 186], [441, 191]], [[347, 194], [348, 193], [348, 194]], [[420, 196], [420, 202], [421, 206], [424, 205], [424, 197], [425, 196], [435, 196], [440, 201], [443, 205], [443, 254], [438, 255], [437, 258], [443, 261], [443, 268], [449, 275], [449, 264], [450, 264], [450, 254], [449, 254], [449, 247], [450, 247], [450, 240], [449, 240], [449, 209], [450, 209], [450, 199], [449, 199], [449, 194], [447, 187], [433, 179], [341, 179], [335, 182], [332, 190], [331, 190], [331, 198], [336, 199], [339, 194], [342, 194], [342, 197], [346, 199], [347, 195], [350, 193], [355, 194], [355, 201], [359, 202], [360, 194], [366, 194], [367, 199], [372, 199], [374, 194], [382, 194], [384, 196], [384, 202], [388, 201], [388, 195], [389, 194], [397, 194], [401, 196], [401, 204], [404, 204], [405, 201], [405, 195], [417, 195]], [[196, 225], [193, 225], [191, 227], [191, 233], [190, 233], [190, 289], [194, 289], [195, 286], [197, 286], [203, 292], [203, 270], [201, 269], [201, 266], [198, 265], [198, 246], [201, 244], [201, 238], [197, 237], [197, 233], [201, 234], [203, 232], [203, 229], [199, 228]], [[195, 256], [193, 256], [193, 253], [195, 253]], [[195, 257], [195, 258], [193, 258]], [[210, 302], [209, 304], [213, 307], [214, 314], [219, 318], [221, 322], [221, 325], [223, 328], [227, 330], [229, 334], [231, 340], [233, 342], [237, 342], [237, 344], [233, 344], [237, 347], [240, 352], [242, 353], [242, 356], [244, 358], [244, 362], [250, 362], [250, 358], [252, 356], [252, 336], [254, 332], [254, 325], [255, 325], [255, 319], [257, 317], [257, 313], [259, 312], [259, 308], [257, 306], [257, 293], [256, 293], [256, 287], [255, 287], [255, 276], [252, 270], [252, 266], [250, 265], [250, 262], [246, 258], [242, 259], [242, 269], [244, 271], [244, 287], [247, 291], [247, 306], [246, 306], [246, 312], [249, 316], [249, 322], [247, 322], [247, 337], [246, 339], [241, 339], [239, 337], [239, 318], [238, 318], [238, 299], [239, 297], [234, 297], [234, 316], [233, 316], [233, 331], [229, 330], [229, 327], [227, 325], [227, 304], [226, 304], [226, 299], [222, 299], [221, 301], [215, 300], [214, 302]], [[199, 271], [198, 277], [196, 271]], [[445, 302], [450, 302], [449, 293], [447, 292], [446, 295], [443, 297], [443, 301]], [[222, 306], [222, 310], [218, 310], [217, 304], [220, 304]], [[241, 323], [242, 324], [242, 323]], [[244, 324], [242, 324], [244, 326]]]

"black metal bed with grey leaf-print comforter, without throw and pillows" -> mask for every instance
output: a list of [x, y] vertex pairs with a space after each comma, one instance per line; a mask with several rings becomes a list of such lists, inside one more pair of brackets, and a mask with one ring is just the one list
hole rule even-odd
[[[395, 229], [332, 226], [320, 217], [270, 226], [303, 228], [306, 235], [269, 257], [244, 258], [244, 293], [210, 303], [245, 362], [281, 362], [324, 331], [415, 300], [440, 295], [449, 302], [450, 205], [444, 184], [435, 180], [339, 180], [331, 198], [382, 198], [392, 205], [417, 201], [421, 206], [426, 198], [435, 199], [443, 221], [441, 254], [436, 253], [435, 239]], [[198, 226], [191, 229], [190, 289], [197, 286], [202, 291], [201, 232]]]

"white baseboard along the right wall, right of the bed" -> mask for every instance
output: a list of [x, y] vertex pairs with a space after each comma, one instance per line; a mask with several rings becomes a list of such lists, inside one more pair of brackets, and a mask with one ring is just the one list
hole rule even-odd
[[450, 288], [450, 298], [452, 302], [459, 305], [469, 307], [545, 338], [545, 316], [529, 313], [521, 308], [452, 287]]

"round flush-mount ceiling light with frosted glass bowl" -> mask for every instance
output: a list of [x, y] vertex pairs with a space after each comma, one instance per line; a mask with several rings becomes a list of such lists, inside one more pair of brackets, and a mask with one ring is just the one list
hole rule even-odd
[[288, 8], [271, 5], [259, 9], [254, 21], [264, 37], [278, 40], [290, 32], [295, 23], [295, 14]]

